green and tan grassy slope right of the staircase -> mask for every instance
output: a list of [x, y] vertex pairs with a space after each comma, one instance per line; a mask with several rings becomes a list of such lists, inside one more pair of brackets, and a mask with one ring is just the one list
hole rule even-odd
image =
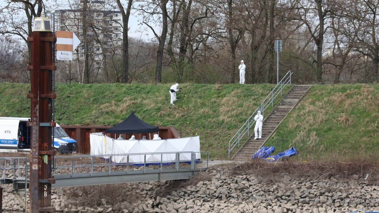
[[299, 159], [368, 157], [379, 150], [379, 85], [313, 86], [265, 146]]

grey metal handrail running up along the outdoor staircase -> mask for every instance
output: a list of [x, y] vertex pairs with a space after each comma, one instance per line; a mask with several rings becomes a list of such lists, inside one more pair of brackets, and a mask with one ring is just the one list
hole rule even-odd
[[291, 84], [291, 76], [293, 72], [288, 71], [285, 76], [282, 78], [282, 80], [279, 81], [279, 83], [274, 87], [274, 89], [267, 95], [265, 100], [262, 101], [261, 106], [259, 106], [253, 113], [252, 115], [246, 120], [246, 122], [241, 126], [241, 128], [237, 131], [237, 133], [230, 139], [229, 141], [229, 153], [228, 153], [228, 158], [230, 159], [230, 152], [232, 151], [233, 148], [235, 148], [237, 145], [240, 147], [240, 141], [241, 138], [243, 138], [246, 133], [247, 136], [250, 136], [250, 128], [253, 126], [255, 123], [254, 120], [254, 115], [256, 112], [259, 110], [261, 111], [262, 115], [264, 115], [265, 110], [271, 104], [272, 107], [274, 107], [274, 100], [276, 97], [279, 95], [283, 95], [283, 88], [287, 86], [287, 84]]

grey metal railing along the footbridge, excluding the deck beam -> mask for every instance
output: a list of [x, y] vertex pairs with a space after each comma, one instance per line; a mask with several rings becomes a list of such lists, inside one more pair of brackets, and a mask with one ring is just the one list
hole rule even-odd
[[[205, 156], [205, 159], [201, 160], [200, 156], [203, 158]], [[194, 171], [207, 169], [208, 161], [209, 152], [67, 155], [53, 157], [52, 175], [59, 178], [121, 173]], [[0, 158], [0, 180], [2, 183], [5, 183], [6, 179], [14, 177], [28, 178], [28, 162], [30, 162], [28, 158]]]

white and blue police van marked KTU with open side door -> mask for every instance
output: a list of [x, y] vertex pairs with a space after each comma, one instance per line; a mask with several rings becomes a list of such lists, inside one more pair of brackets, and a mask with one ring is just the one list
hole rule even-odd
[[[0, 152], [30, 152], [29, 118], [0, 117]], [[53, 146], [62, 154], [77, 153], [78, 143], [56, 124]]]

